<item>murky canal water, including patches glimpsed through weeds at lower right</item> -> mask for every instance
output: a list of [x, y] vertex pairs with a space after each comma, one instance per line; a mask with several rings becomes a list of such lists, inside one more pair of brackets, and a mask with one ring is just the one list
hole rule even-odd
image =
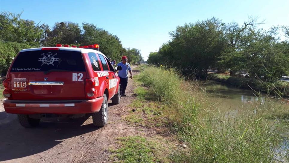
[[[239, 89], [234, 86], [215, 81], [204, 82], [202, 90], [206, 91], [209, 102], [214, 105], [213, 108], [219, 109], [221, 114], [226, 117], [244, 118], [249, 114], [257, 114], [260, 111], [268, 115], [280, 116], [284, 122], [289, 122], [289, 101], [288, 99], [278, 99], [272, 96], [257, 96], [253, 90]], [[265, 117], [264, 117], [265, 118]], [[274, 118], [267, 117], [270, 123], [275, 123]], [[276, 148], [276, 153], [288, 155], [286, 151], [289, 148], [289, 127], [285, 125], [281, 132], [283, 141], [280, 147]], [[280, 159], [279, 156], [276, 159]], [[286, 161], [285, 161], [286, 162]]]

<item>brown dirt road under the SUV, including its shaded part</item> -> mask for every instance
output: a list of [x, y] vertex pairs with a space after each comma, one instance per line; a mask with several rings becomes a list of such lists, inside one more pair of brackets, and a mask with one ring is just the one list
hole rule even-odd
[[110, 162], [108, 149], [115, 146], [115, 138], [139, 132], [122, 120], [135, 99], [134, 88], [129, 79], [128, 96], [122, 97], [119, 105], [109, 102], [109, 123], [102, 128], [93, 126], [89, 117], [44, 120], [39, 127], [28, 129], [1, 105], [0, 162]]

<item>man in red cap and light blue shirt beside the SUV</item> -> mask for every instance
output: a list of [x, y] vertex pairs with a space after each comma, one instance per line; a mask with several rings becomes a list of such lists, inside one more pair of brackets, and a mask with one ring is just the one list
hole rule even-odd
[[122, 56], [121, 62], [117, 64], [118, 66], [121, 66], [121, 70], [118, 71], [118, 77], [121, 84], [121, 96], [127, 96], [125, 95], [125, 89], [127, 88], [128, 72], [130, 72], [130, 79], [133, 79], [130, 64], [127, 63], [127, 60], [127, 56]]

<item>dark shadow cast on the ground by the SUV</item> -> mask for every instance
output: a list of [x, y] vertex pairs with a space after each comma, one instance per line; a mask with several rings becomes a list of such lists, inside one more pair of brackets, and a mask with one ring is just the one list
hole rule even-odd
[[99, 128], [83, 123], [87, 118], [40, 121], [36, 128], [20, 126], [15, 114], [0, 112], [0, 162], [31, 156], [51, 149], [64, 139]]

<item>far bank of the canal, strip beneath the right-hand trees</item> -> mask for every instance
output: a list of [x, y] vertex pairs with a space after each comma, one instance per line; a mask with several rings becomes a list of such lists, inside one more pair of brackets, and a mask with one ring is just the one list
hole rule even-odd
[[240, 78], [223, 74], [211, 74], [210, 80], [233, 85], [238, 88], [255, 90], [259, 94], [289, 97], [289, 82], [263, 82], [255, 78]]

